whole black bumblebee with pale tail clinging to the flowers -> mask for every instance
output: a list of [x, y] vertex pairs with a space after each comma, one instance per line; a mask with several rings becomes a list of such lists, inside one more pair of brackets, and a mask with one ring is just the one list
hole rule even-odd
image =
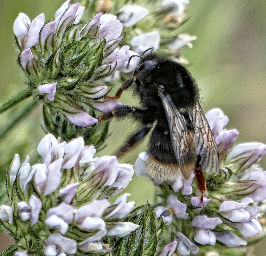
[[200, 106], [195, 81], [180, 63], [161, 57], [152, 49], [139, 57], [133, 78], [125, 81], [115, 96], [108, 98], [120, 98], [123, 90], [135, 82], [134, 91], [143, 108], [121, 105], [98, 119], [105, 121], [130, 114], [141, 121], [139, 131], [118, 151], [118, 157], [154, 126], [147, 151], [148, 176], [161, 182], [173, 182], [180, 175], [189, 179], [195, 170], [203, 195], [206, 183], [201, 170], [208, 174], [218, 172], [219, 151]]

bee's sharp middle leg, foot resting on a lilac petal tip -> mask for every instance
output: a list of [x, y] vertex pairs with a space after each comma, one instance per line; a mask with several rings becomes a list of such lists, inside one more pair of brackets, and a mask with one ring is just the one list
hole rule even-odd
[[144, 114], [146, 113], [146, 110], [136, 107], [130, 107], [128, 105], [120, 105], [115, 107], [112, 111], [103, 113], [98, 117], [99, 122], [107, 121], [111, 119], [112, 117], [124, 117], [128, 114], [132, 113], [133, 117], [136, 120], [142, 119]]

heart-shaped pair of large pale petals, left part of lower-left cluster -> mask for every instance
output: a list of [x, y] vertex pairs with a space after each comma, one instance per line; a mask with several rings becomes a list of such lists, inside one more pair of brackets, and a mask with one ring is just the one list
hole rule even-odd
[[32, 171], [35, 171], [35, 186], [43, 196], [51, 194], [59, 187], [62, 177], [62, 163], [63, 158], [59, 158], [49, 166], [45, 164], [36, 164], [32, 166]]

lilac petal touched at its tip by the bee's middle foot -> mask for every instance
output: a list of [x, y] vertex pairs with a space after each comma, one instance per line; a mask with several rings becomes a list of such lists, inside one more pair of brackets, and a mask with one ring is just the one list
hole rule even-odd
[[83, 110], [76, 108], [68, 108], [69, 111], [73, 112], [73, 114], [65, 113], [68, 121], [74, 125], [81, 127], [88, 127], [98, 122], [98, 119], [90, 116]]

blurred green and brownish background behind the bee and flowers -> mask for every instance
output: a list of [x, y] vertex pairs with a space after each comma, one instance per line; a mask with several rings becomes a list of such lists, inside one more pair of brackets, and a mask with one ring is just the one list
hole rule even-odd
[[[22, 71], [16, 63], [13, 23], [19, 12], [30, 19], [44, 12], [45, 21], [54, 19], [55, 11], [64, 0], [0, 0], [0, 102], [25, 89]], [[189, 70], [196, 79], [202, 95], [205, 113], [221, 108], [229, 117], [227, 129], [236, 128], [240, 134], [236, 143], [259, 141], [266, 143], [266, 1], [265, 0], [190, 0], [186, 16], [191, 19], [180, 33], [198, 38], [193, 48], [186, 47], [182, 55], [191, 64]], [[0, 131], [14, 119], [32, 99], [27, 99], [0, 116]], [[125, 92], [123, 103], [136, 105]], [[0, 138], [0, 180], [4, 182], [6, 169], [15, 153], [23, 162], [38, 161], [36, 147], [44, 132], [40, 126], [41, 106]], [[113, 122], [108, 146], [98, 156], [111, 154], [123, 144], [134, 124], [128, 120]], [[120, 162], [134, 164], [138, 154], [146, 150], [147, 139]], [[266, 157], [260, 161], [266, 169]], [[125, 192], [136, 205], [154, 201], [154, 187], [146, 178], [133, 180]], [[7, 238], [0, 238], [0, 251], [9, 246]], [[255, 246], [254, 255], [265, 255], [264, 239]]]

